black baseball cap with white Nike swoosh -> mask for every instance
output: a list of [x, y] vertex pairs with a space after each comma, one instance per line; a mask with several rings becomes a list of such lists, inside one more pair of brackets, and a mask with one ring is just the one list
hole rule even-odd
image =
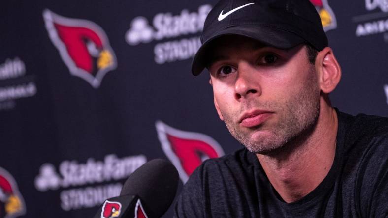
[[205, 20], [202, 46], [192, 63], [195, 76], [206, 67], [206, 49], [225, 35], [250, 37], [279, 49], [302, 43], [318, 51], [328, 46], [321, 18], [309, 0], [220, 0]]

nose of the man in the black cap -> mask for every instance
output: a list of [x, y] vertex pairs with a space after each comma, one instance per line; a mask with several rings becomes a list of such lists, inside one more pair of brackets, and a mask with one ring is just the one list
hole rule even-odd
[[255, 66], [247, 62], [242, 62], [238, 64], [237, 71], [237, 78], [234, 84], [236, 100], [260, 96], [260, 76]]

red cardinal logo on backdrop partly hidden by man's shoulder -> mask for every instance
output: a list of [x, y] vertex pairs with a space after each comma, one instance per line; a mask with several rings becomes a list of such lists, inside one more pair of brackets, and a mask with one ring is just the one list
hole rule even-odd
[[210, 136], [177, 130], [162, 121], [156, 122], [156, 129], [162, 149], [178, 169], [183, 183], [204, 160], [224, 155], [221, 146]]

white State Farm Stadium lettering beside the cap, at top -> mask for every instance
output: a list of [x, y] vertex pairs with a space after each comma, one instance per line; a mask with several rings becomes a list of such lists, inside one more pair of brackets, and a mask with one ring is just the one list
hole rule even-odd
[[[201, 32], [211, 5], [204, 4], [196, 12], [183, 9], [179, 15], [172, 13], [156, 14], [152, 26], [147, 18], [139, 16], [130, 22], [130, 28], [125, 35], [131, 46], [140, 43], [150, 43], [153, 40], [177, 38]], [[158, 64], [186, 60], [193, 57], [201, 46], [198, 36], [158, 43], [154, 47], [154, 61]]]

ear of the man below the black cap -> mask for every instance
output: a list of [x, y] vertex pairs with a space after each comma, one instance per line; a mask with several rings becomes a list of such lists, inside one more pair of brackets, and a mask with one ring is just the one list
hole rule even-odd
[[341, 79], [341, 67], [330, 47], [324, 48], [318, 53], [315, 61], [320, 88], [323, 93], [332, 92]]

